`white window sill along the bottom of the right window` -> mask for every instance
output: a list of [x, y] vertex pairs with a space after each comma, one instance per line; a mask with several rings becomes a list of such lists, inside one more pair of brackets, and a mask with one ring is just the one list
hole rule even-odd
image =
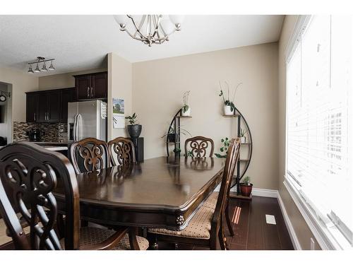
[[[303, 197], [299, 194], [294, 182], [290, 177], [285, 176], [285, 181], [283, 182], [289, 195], [292, 197], [294, 203], [297, 205], [301, 215], [308, 224], [311, 232], [313, 232], [314, 237], [318, 241], [321, 249], [352, 249], [349, 242], [343, 237], [342, 234], [337, 230], [333, 223], [323, 224], [313, 210], [306, 204]], [[333, 237], [335, 235], [335, 237]]]

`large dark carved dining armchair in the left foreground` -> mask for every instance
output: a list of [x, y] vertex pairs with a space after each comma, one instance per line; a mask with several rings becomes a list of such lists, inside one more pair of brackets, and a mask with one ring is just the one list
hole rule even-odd
[[[64, 238], [56, 231], [57, 184], [65, 193]], [[33, 143], [0, 150], [0, 213], [16, 249], [131, 249], [136, 243], [148, 248], [148, 240], [133, 237], [126, 227], [80, 228], [79, 199], [75, 170], [61, 153]]]

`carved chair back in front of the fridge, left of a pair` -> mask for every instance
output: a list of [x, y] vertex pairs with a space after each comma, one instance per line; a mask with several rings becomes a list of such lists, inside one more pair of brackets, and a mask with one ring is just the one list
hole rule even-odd
[[86, 138], [70, 147], [73, 167], [77, 174], [109, 167], [109, 150], [104, 141]]

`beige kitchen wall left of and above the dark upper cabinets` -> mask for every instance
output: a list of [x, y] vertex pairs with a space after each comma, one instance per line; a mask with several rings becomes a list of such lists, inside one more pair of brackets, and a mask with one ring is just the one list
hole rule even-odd
[[12, 84], [12, 120], [25, 122], [25, 92], [38, 90], [38, 78], [26, 71], [0, 68], [0, 82]]

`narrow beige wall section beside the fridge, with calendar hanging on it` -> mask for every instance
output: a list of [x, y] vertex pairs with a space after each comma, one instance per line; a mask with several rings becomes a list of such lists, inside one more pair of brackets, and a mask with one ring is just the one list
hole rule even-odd
[[125, 116], [132, 108], [132, 64], [114, 53], [108, 54], [108, 141], [128, 136], [126, 129], [114, 129], [112, 98], [124, 99]]

